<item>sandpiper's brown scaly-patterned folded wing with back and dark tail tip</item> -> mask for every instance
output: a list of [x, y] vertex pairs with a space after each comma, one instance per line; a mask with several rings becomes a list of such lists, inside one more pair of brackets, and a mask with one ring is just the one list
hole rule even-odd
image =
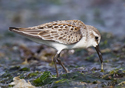
[[81, 28], [86, 29], [83, 22], [79, 20], [67, 20], [53, 21], [29, 28], [10, 27], [10, 30], [43, 40], [52, 40], [63, 44], [74, 44], [82, 38]]

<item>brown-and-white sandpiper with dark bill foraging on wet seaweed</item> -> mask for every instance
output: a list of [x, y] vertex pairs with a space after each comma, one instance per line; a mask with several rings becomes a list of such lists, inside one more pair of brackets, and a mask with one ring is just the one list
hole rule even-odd
[[9, 30], [19, 33], [37, 43], [55, 48], [57, 53], [53, 61], [57, 76], [59, 76], [59, 73], [56, 61], [58, 61], [68, 73], [68, 70], [59, 59], [60, 53], [64, 49], [88, 48], [94, 46], [101, 61], [101, 70], [103, 70], [103, 59], [99, 49], [101, 35], [95, 27], [85, 25], [80, 20], [53, 21], [28, 28], [10, 27]]

